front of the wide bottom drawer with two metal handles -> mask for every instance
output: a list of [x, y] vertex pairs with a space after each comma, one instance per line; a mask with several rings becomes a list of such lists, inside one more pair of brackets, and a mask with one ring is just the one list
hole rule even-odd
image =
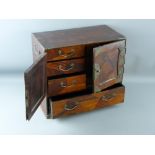
[[121, 103], [124, 101], [124, 91], [124, 86], [121, 86], [100, 93], [93, 93], [60, 101], [51, 101], [53, 118], [87, 112]]

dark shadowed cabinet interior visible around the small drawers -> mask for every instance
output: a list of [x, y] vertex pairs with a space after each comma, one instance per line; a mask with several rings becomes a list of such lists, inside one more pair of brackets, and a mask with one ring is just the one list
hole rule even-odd
[[[108, 42], [108, 43], [112, 43], [112, 42]], [[104, 43], [104, 44], [107, 44], [107, 43]], [[47, 80], [52, 80], [55, 78], [71, 77], [71, 76], [75, 76], [75, 75], [86, 74], [86, 89], [82, 90], [82, 91], [71, 92], [68, 94], [52, 96], [52, 97], [49, 97], [49, 99], [51, 99], [52, 101], [58, 101], [58, 100], [63, 100], [63, 99], [67, 99], [67, 98], [72, 98], [72, 97], [76, 97], [76, 96], [87, 95], [87, 94], [93, 93], [93, 90], [94, 90], [94, 88], [93, 88], [94, 87], [94, 84], [93, 84], [93, 63], [94, 63], [93, 62], [93, 48], [95, 48], [97, 46], [104, 45], [104, 44], [103, 43], [97, 43], [97, 44], [91, 44], [91, 45], [85, 46], [85, 56], [84, 56], [85, 71], [84, 72], [72, 73], [72, 74], [63, 74], [63, 75], [53, 76], [53, 77], [47, 78]], [[116, 88], [119, 86], [122, 86], [122, 84], [118, 83], [118, 84], [115, 84], [115, 85], [108, 87], [104, 90]]]

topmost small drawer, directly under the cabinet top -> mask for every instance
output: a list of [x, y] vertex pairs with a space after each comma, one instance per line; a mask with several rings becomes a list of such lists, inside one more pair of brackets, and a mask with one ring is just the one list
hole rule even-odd
[[47, 51], [47, 61], [80, 58], [85, 55], [85, 46], [70, 46]]

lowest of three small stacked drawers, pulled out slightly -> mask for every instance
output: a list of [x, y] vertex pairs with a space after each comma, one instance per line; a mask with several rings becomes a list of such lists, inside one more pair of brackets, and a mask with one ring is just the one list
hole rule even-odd
[[86, 89], [86, 75], [48, 81], [48, 96], [56, 96]]

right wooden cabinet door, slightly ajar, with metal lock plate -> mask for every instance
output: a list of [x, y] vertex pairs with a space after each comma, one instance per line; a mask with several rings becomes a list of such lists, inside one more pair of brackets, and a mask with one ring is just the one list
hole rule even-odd
[[94, 92], [122, 82], [125, 63], [125, 40], [93, 49]]

